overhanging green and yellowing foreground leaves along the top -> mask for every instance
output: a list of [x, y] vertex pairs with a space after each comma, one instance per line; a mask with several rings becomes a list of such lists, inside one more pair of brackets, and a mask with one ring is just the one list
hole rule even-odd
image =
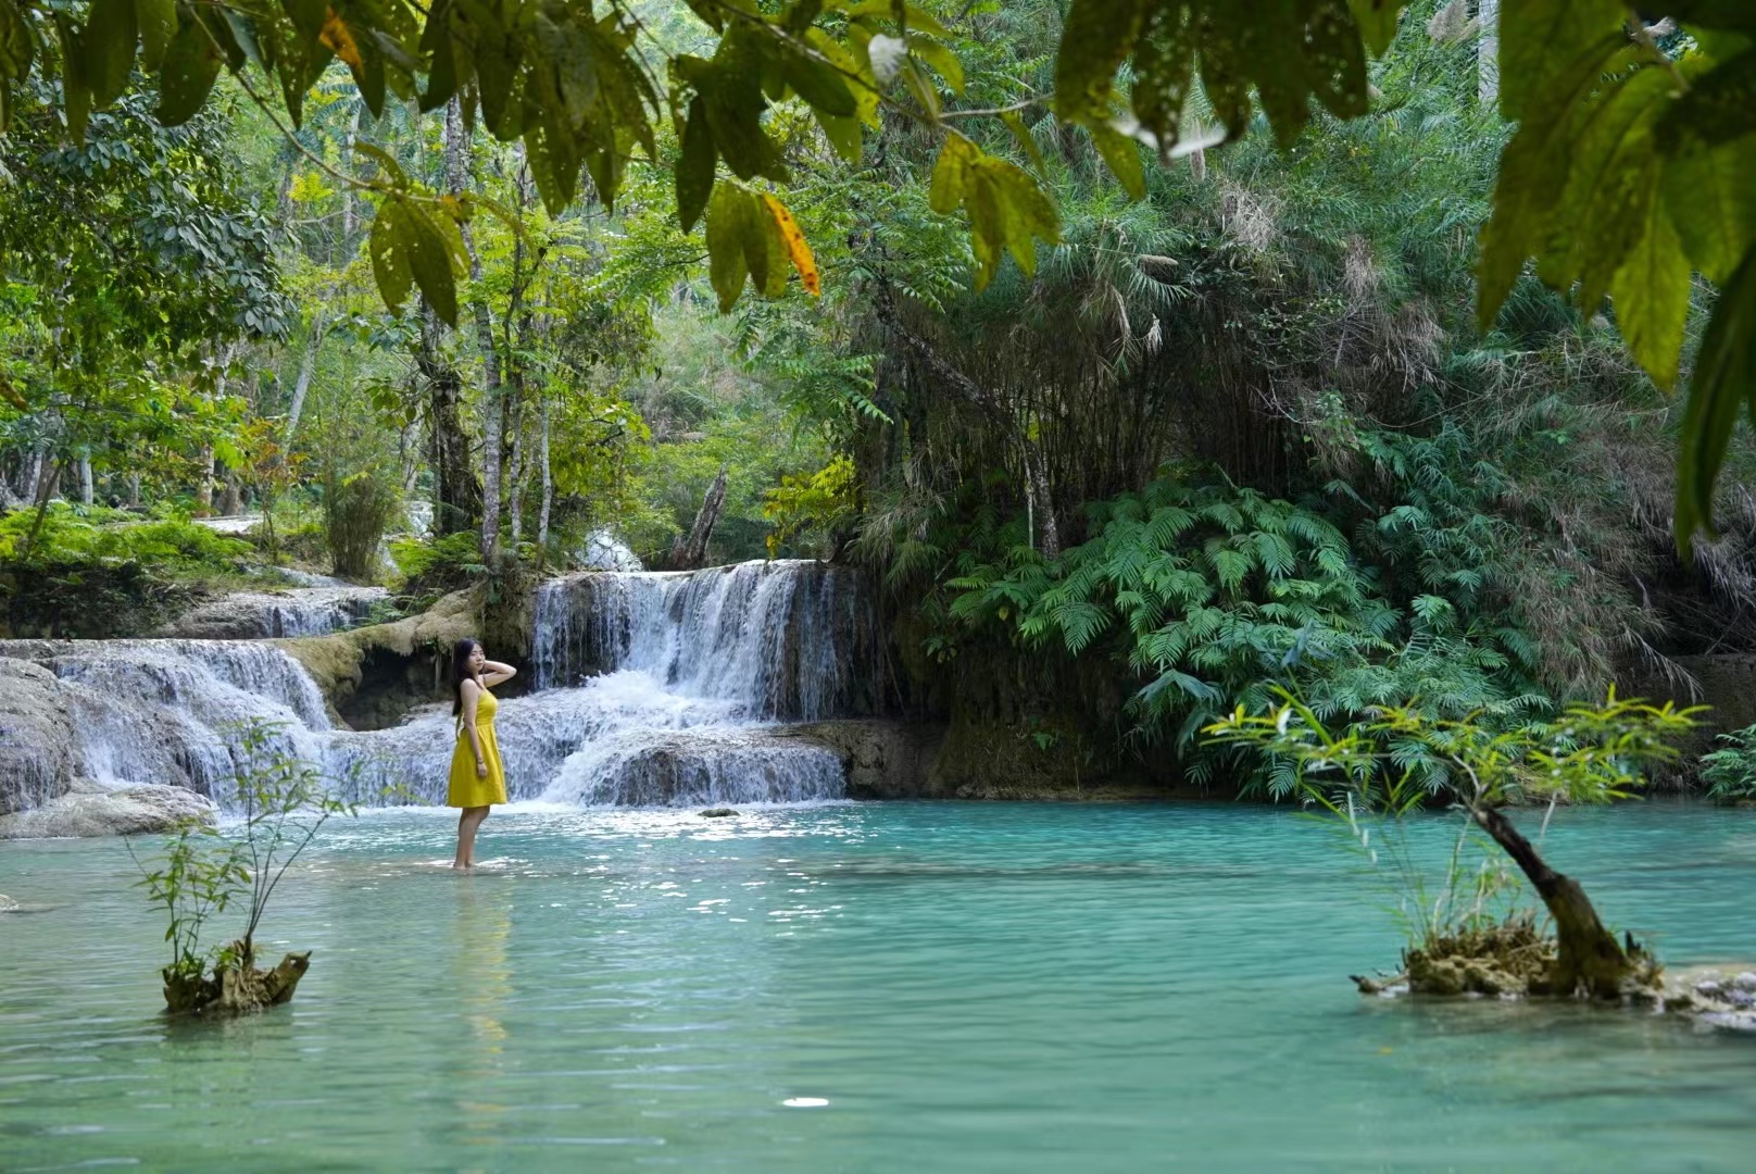
[[[776, 109], [792, 100], [846, 162], [860, 158], [864, 134], [885, 118], [943, 139], [932, 207], [968, 216], [975, 279], [985, 285], [1006, 253], [1031, 271], [1038, 243], [1059, 239], [1059, 216], [1038, 179], [978, 151], [971, 135], [952, 130], [954, 120], [992, 118], [1017, 134], [1020, 111], [1050, 109], [1090, 134], [1138, 197], [1138, 146], [1169, 160], [1238, 139], [1257, 112], [1291, 146], [1315, 107], [1343, 120], [1368, 112], [1366, 58], [1410, 23], [1401, 19], [1407, 0], [1075, 0], [1050, 91], [982, 79], [1013, 98], [964, 107], [964, 58], [975, 49], [927, 7], [688, 7], [711, 30], [701, 53], [658, 42], [627, 0], [0, 0], [0, 125], [40, 70], [60, 81], [77, 141], [93, 111], [135, 84], [139, 63], [165, 123], [191, 118], [225, 69], [297, 127], [325, 67], [342, 62], [374, 116], [386, 95], [421, 111], [455, 102], [465, 123], [520, 141], [550, 213], [576, 199], [581, 172], [608, 206], [630, 160], [669, 169], [685, 230], [709, 213], [708, 246], [729, 306], [745, 274], [767, 295], [785, 286], [750, 232], [711, 232], [718, 169], [739, 183], [790, 183]], [[1519, 130], [1484, 234], [1482, 322], [1535, 255], [1538, 274], [1577, 290], [1586, 311], [1612, 297], [1635, 359], [1670, 388], [1682, 373], [1691, 272], [1723, 286], [1679, 457], [1675, 529], [1688, 545], [1698, 529], [1712, 533], [1726, 441], [1740, 408], [1756, 409], [1756, 185], [1747, 183], [1756, 7], [1672, 0], [1679, 25], [1654, 28], [1623, 0], [1503, 0], [1498, 11], [1500, 105]], [[674, 158], [660, 148], [664, 120], [681, 144]], [[1022, 139], [1026, 155], [1040, 158]], [[420, 286], [455, 322], [460, 257], [451, 237], [472, 209], [390, 170], [372, 181], [332, 170], [381, 193], [386, 223], [372, 234], [372, 258], [386, 302]]]

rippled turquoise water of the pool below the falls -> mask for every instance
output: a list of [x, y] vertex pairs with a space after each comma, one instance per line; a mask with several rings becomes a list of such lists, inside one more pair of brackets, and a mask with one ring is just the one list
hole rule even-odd
[[[1547, 847], [1673, 965], [1756, 960], [1756, 814]], [[529, 808], [450, 851], [443, 812], [325, 833], [265, 924], [297, 1000], [170, 1025], [123, 845], [0, 844], [0, 1169], [1756, 1165], [1756, 1039], [1359, 998], [1396, 926], [1287, 812]]]

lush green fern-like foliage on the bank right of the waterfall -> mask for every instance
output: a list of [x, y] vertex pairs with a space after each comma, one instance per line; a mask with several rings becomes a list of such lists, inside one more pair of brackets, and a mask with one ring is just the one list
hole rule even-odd
[[[1001, 626], [1029, 652], [1112, 661], [1136, 684], [1133, 736], [1175, 750], [1199, 786], [1294, 791], [1285, 763], [1199, 736], [1238, 707], [1266, 708], [1280, 687], [1340, 724], [1410, 698], [1433, 717], [1505, 724], [1552, 707], [1535, 641], [1480, 608], [1475, 578], [1401, 592], [1312, 504], [1212, 475], [1166, 476], [1094, 504], [1087, 527], [1092, 538], [1055, 559], [1024, 543], [966, 554], [945, 582], [950, 631]], [[1417, 775], [1421, 757], [1410, 750]], [[1436, 789], [1443, 768], [1428, 768]]]

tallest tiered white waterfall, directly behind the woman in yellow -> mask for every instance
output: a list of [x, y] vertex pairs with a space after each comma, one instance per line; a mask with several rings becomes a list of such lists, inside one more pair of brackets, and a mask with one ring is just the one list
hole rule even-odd
[[[500, 703], [513, 800], [576, 805], [838, 798], [841, 759], [776, 736], [862, 699], [871, 617], [850, 573], [808, 561], [692, 573], [588, 571], [536, 598], [536, 692]], [[360, 801], [443, 803], [446, 708], [335, 733], [328, 768]]]

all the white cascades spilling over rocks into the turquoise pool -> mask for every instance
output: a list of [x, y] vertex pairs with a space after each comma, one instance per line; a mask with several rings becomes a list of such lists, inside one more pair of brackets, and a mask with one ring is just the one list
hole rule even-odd
[[[495, 719], [513, 800], [579, 805], [839, 798], [839, 756], [781, 721], [845, 712], [869, 622], [852, 580], [815, 562], [592, 573], [537, 596], [536, 692]], [[332, 729], [309, 675], [272, 645], [218, 640], [0, 641], [44, 664], [74, 715], [83, 772], [202, 793], [234, 770], [242, 722], [323, 765], [363, 803], [443, 803], [457, 724]], [[597, 671], [599, 675], [588, 677]]]

